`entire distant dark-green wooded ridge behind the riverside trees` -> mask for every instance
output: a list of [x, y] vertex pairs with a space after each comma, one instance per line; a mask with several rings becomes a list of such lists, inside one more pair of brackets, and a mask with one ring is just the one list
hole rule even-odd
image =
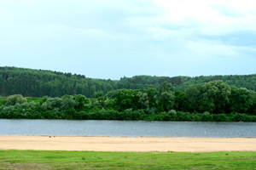
[[119, 81], [93, 79], [84, 75], [44, 71], [17, 67], [0, 67], [0, 95], [22, 94], [31, 97], [61, 97], [65, 94], [84, 94], [92, 97], [96, 91], [107, 94], [120, 88], [158, 88], [162, 82], [171, 82], [175, 89], [184, 91], [192, 84], [222, 80], [238, 88], [256, 90], [256, 74], [244, 76], [208, 76], [208, 77], [121, 77]]

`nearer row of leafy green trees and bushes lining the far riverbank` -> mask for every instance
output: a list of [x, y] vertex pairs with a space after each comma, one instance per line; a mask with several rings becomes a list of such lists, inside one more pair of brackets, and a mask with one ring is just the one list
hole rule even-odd
[[20, 94], [2, 98], [0, 118], [256, 122], [256, 93], [219, 80], [184, 92], [162, 82], [158, 89], [97, 91], [90, 99], [82, 94], [27, 99]]

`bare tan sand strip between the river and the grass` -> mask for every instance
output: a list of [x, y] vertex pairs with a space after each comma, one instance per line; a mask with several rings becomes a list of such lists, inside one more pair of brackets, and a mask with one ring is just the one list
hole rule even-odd
[[0, 136], [0, 150], [256, 151], [256, 138]]

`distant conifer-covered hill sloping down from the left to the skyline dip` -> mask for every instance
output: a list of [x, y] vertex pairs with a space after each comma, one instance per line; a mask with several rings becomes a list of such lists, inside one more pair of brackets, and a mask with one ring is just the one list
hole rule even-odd
[[104, 94], [115, 89], [116, 82], [83, 75], [16, 67], [0, 67], [0, 95], [22, 94], [30, 97], [61, 97], [83, 94], [90, 97], [100, 90]]

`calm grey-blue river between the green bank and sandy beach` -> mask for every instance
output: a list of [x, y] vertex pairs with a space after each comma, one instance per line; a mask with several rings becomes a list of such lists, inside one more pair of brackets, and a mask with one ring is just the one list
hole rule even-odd
[[0, 119], [0, 135], [256, 137], [256, 122], [144, 122]]

